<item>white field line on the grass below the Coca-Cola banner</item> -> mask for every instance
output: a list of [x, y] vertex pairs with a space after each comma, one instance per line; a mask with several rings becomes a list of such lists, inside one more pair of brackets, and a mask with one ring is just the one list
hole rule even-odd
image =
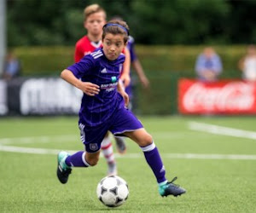
[[218, 126], [213, 124], [205, 124], [191, 121], [189, 122], [189, 130], [208, 132], [215, 135], [229, 135], [232, 137], [240, 137], [256, 140], [256, 132], [239, 130], [230, 127]]

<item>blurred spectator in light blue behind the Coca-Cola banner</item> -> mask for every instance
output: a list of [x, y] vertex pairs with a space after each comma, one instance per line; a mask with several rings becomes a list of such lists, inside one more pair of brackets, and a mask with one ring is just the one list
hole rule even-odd
[[207, 47], [196, 59], [195, 71], [201, 81], [213, 82], [218, 80], [222, 72], [222, 62], [212, 47]]

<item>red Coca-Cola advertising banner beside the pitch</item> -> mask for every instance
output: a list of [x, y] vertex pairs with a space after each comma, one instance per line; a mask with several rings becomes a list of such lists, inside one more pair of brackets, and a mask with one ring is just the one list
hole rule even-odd
[[256, 83], [225, 80], [178, 81], [178, 111], [183, 114], [255, 114]]

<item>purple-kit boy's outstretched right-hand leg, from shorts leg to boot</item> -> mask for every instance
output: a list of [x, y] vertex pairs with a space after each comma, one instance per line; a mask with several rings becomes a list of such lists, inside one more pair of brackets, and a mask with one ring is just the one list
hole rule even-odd
[[166, 180], [166, 170], [152, 136], [143, 129], [143, 124], [131, 111], [122, 108], [116, 112], [110, 130], [114, 135], [130, 137], [131, 140], [136, 141], [139, 147], [142, 148], [148, 165], [153, 170], [159, 184], [161, 196], [168, 196], [170, 194], [177, 196], [186, 192], [182, 187], [173, 184], [172, 181], [175, 181], [175, 179], [171, 182]]

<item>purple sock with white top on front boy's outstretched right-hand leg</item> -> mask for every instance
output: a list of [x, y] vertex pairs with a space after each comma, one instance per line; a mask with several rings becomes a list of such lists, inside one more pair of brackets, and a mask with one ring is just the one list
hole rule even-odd
[[155, 147], [154, 141], [147, 147], [141, 147], [144, 156], [148, 162], [148, 165], [154, 172], [154, 176], [158, 183], [167, 182], [166, 181], [166, 170], [160, 158], [160, 153], [157, 147]]

